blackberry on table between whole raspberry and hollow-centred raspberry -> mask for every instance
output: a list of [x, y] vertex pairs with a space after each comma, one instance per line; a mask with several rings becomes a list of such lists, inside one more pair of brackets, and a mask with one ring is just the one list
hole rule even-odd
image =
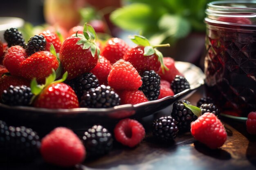
[[83, 144], [86, 148], [88, 157], [104, 155], [108, 153], [113, 146], [112, 134], [108, 129], [100, 125], [94, 125], [83, 135]]

